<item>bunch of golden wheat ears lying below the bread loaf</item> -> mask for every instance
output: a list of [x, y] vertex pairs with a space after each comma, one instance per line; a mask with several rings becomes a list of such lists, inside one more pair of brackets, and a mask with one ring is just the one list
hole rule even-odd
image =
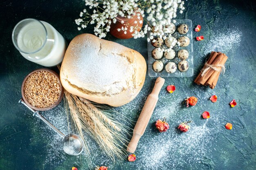
[[[111, 120], [88, 100], [67, 91], [65, 91], [65, 96], [79, 135], [84, 139], [83, 130], [88, 132], [113, 161], [115, 161], [115, 157], [117, 159], [124, 158], [125, 149], [121, 144], [125, 145], [127, 142], [124, 137], [125, 126]], [[85, 139], [83, 141], [86, 143]]]

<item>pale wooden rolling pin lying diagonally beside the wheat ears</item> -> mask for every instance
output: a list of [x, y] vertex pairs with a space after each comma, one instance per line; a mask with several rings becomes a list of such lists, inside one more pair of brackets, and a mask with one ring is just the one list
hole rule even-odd
[[139, 115], [139, 119], [134, 127], [132, 139], [127, 147], [128, 152], [135, 152], [139, 139], [144, 134], [146, 127], [148, 125], [148, 121], [155, 109], [155, 105], [157, 104], [158, 100], [158, 95], [162, 86], [164, 85], [164, 81], [165, 80], [163, 78], [157, 77], [155, 81], [155, 86], [152, 92], [148, 95], [144, 107], [142, 108], [141, 113]]

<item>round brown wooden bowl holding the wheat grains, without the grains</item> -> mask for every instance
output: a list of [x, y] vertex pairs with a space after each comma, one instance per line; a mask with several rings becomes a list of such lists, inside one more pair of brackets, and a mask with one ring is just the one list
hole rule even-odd
[[[47, 71], [47, 72], [49, 72], [49, 73], [54, 74], [54, 75], [57, 77], [58, 83], [60, 84], [60, 87], [61, 87], [61, 93], [60, 93], [58, 99], [56, 100], [56, 102], [55, 102], [54, 104], [52, 104], [52, 106], [49, 106], [49, 107], [46, 107], [46, 108], [37, 108], [37, 107], [35, 107], [35, 106], [32, 106], [32, 105], [27, 101], [27, 99], [26, 99], [26, 97], [25, 97], [25, 94], [24, 94], [24, 85], [25, 85], [25, 82], [27, 81], [27, 78], [28, 78], [31, 74], [36, 73], [36, 72], [38, 72], [38, 71]], [[48, 69], [48, 68], [40, 68], [40, 69], [37, 69], [37, 70], [35, 70], [35, 71], [32, 71], [31, 73], [29, 73], [29, 74], [25, 77], [25, 79], [23, 80], [22, 85], [21, 85], [21, 95], [22, 95], [22, 98], [23, 98], [24, 102], [25, 102], [29, 107], [33, 108], [34, 110], [45, 111], [45, 110], [50, 110], [50, 109], [56, 107], [56, 106], [61, 102], [61, 99], [63, 98], [63, 94], [64, 94], [64, 88], [63, 88], [63, 86], [61, 85], [60, 76], [59, 76], [55, 71], [52, 71], [52, 70], [50, 70], [50, 69]]]

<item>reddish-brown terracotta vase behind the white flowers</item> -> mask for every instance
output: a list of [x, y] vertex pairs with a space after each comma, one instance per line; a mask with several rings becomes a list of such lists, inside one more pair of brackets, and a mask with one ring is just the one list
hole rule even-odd
[[[143, 18], [141, 17], [140, 19], [142, 20], [142, 23], [139, 23], [139, 19], [136, 17], [136, 15], [134, 17], [131, 17], [130, 19], [126, 17], [121, 17], [118, 15], [116, 19], [117, 19], [117, 22], [115, 24], [112, 22], [112, 24], [110, 25], [110, 34], [119, 39], [132, 38], [133, 37], [132, 34], [134, 33], [135, 29], [133, 29], [133, 31], [130, 32], [130, 26], [135, 27], [138, 25], [137, 31], [140, 31], [143, 25]], [[121, 21], [124, 21], [124, 23], [122, 24]], [[134, 23], [135, 21], [137, 21], [136, 24]], [[124, 28], [125, 26], [127, 27], [126, 34], [124, 34], [123, 30], [117, 31], [117, 29], [121, 29], [122, 26]]]

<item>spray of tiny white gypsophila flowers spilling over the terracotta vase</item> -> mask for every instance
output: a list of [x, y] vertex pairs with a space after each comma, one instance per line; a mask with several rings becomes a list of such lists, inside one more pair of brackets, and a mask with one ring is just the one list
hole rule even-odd
[[[120, 31], [130, 31], [134, 38], [142, 38], [146, 35], [147, 31], [150, 31], [152, 27], [156, 31], [160, 31], [171, 24], [171, 20], [179, 13], [184, 12], [183, 0], [84, 0], [85, 6], [92, 9], [92, 13], [83, 9], [80, 12], [79, 19], [75, 20], [77, 25], [81, 25], [81, 28], [86, 28], [88, 24], [96, 24], [94, 28], [95, 35], [99, 38], [106, 36], [106, 33], [110, 31], [110, 24], [116, 23], [116, 17], [119, 15], [127, 19], [136, 18], [135, 23], [125, 26]], [[146, 25], [142, 28], [139, 24], [143, 23], [143, 17], [146, 20]], [[121, 21], [124, 24], [124, 21]], [[148, 26], [150, 23], [150, 26]], [[175, 21], [173, 21], [175, 23]], [[140, 30], [140, 31], [137, 31]], [[127, 32], [126, 32], [127, 33]], [[166, 29], [159, 33], [157, 36], [168, 34]]]

